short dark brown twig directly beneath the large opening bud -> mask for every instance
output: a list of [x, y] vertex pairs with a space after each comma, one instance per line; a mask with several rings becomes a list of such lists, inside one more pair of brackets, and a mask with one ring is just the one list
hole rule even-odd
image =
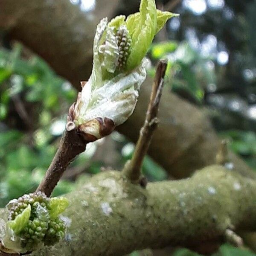
[[67, 166], [85, 150], [86, 144], [87, 142], [83, 140], [76, 129], [65, 130], [58, 151], [36, 191], [42, 191], [49, 197]]

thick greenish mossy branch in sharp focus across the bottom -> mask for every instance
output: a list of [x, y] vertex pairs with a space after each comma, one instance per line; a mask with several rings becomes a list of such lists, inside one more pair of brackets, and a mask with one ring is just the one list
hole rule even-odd
[[66, 241], [32, 255], [118, 256], [167, 245], [207, 253], [227, 229], [256, 230], [256, 181], [217, 165], [146, 189], [121, 172], [102, 172], [67, 198], [64, 215], [72, 222]]

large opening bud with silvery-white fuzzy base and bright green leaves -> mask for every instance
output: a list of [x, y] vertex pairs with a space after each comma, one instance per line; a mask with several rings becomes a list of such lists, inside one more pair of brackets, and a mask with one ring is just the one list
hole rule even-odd
[[134, 111], [140, 85], [146, 77], [144, 59], [154, 35], [176, 16], [156, 9], [154, 0], [142, 0], [140, 12], [104, 18], [93, 43], [93, 70], [70, 107], [67, 131], [77, 129], [87, 141], [110, 134]]

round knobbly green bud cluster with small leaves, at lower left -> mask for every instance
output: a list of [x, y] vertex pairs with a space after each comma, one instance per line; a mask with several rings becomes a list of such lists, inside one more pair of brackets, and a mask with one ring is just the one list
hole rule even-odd
[[2, 245], [15, 253], [26, 253], [43, 244], [52, 245], [64, 238], [66, 224], [59, 218], [67, 208], [66, 198], [47, 198], [42, 192], [23, 195], [6, 208], [9, 221]]

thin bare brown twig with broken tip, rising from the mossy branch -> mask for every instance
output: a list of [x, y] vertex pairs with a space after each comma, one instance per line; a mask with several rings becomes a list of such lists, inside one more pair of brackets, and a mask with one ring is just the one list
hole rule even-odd
[[137, 141], [134, 154], [130, 161], [125, 164], [123, 174], [126, 175], [133, 183], [140, 182], [141, 166], [143, 158], [148, 150], [151, 137], [157, 127], [157, 113], [159, 109], [160, 97], [163, 89], [163, 79], [166, 72], [167, 61], [160, 60], [157, 65], [157, 71], [152, 87], [148, 111], [143, 127], [140, 130], [140, 137]]

